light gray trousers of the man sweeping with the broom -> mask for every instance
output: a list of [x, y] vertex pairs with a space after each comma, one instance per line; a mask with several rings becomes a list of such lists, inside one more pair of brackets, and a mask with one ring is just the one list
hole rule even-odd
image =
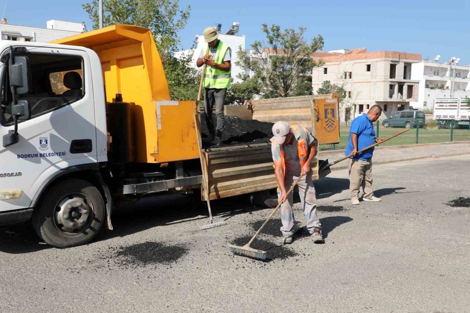
[[[286, 173], [286, 177], [284, 178], [284, 187], [286, 188], [286, 192], [297, 179], [298, 176], [296, 177]], [[302, 209], [304, 210], [305, 217], [307, 218], [307, 229], [310, 234], [313, 234], [315, 228], [321, 229], [321, 224], [317, 216], [317, 200], [315, 198], [315, 187], [313, 187], [312, 171], [302, 177], [298, 181], [297, 186], [298, 194], [300, 196], [300, 203], [302, 205]], [[279, 190], [279, 188], [277, 190], [277, 196], [278, 199], [279, 196], [281, 196], [281, 190]], [[294, 211], [292, 211], [293, 203], [293, 192], [291, 192], [287, 196], [286, 202], [281, 204], [282, 235], [293, 234], [293, 228], [295, 226]]]

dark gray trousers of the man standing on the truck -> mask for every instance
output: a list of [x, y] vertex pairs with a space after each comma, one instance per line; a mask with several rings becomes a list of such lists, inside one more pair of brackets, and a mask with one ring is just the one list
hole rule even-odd
[[[221, 134], [224, 129], [224, 102], [227, 88], [205, 88], [204, 113], [209, 133], [212, 135]], [[215, 115], [217, 117], [217, 129], [214, 128], [212, 120], [212, 110], [215, 105]], [[217, 133], [216, 133], [217, 131]]]

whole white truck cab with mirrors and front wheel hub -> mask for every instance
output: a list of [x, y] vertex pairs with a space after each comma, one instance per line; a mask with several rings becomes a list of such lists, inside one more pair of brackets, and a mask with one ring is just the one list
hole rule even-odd
[[[107, 161], [107, 136], [105, 107], [95, 107], [105, 99], [101, 64], [93, 50], [1, 40], [0, 51], [0, 225], [6, 225], [30, 219], [32, 208], [44, 202], [41, 196], [58, 177], [98, 169], [98, 162]], [[47, 214], [67, 236], [82, 234], [93, 224], [82, 208], [88, 206], [87, 196], [96, 195], [76, 189], [61, 192], [54, 212]], [[36, 224], [40, 218], [45, 217], [38, 216]]]

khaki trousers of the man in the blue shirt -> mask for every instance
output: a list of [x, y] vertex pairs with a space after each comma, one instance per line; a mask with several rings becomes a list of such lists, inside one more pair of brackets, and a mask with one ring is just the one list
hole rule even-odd
[[351, 198], [358, 198], [360, 188], [364, 189], [364, 198], [374, 196], [372, 189], [372, 159], [362, 161], [349, 159], [349, 192]]

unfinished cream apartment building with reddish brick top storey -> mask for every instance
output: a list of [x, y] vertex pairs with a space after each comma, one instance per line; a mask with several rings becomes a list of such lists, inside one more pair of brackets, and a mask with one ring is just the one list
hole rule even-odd
[[410, 102], [417, 101], [419, 80], [411, 79], [411, 65], [421, 62], [421, 54], [367, 52], [367, 48], [358, 48], [343, 54], [313, 57], [324, 61], [322, 67], [313, 69], [313, 94], [317, 94], [325, 80], [346, 90], [346, 98], [340, 104], [341, 121], [345, 121], [347, 107], [351, 107], [350, 119], [353, 119], [378, 104], [385, 118], [395, 111], [409, 109]]

